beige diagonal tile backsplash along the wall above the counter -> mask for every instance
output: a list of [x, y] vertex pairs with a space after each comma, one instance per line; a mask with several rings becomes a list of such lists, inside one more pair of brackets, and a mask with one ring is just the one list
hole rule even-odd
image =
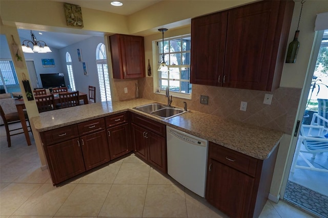
[[[135, 88], [135, 80], [133, 81], [132, 84], [128, 83]], [[152, 77], [139, 78], [137, 81], [140, 98], [166, 102], [164, 95], [154, 93]], [[116, 88], [117, 86], [119, 84]], [[273, 95], [271, 105], [263, 104], [265, 94]], [[200, 104], [201, 95], [209, 96], [208, 104]], [[280, 87], [273, 92], [264, 92], [193, 84], [192, 99], [173, 97], [172, 105], [183, 107], [183, 101], [186, 101], [190, 110], [268, 127], [292, 135], [300, 95], [301, 89], [296, 88]], [[134, 89], [131, 96], [134, 96]], [[241, 101], [248, 103], [247, 111], [239, 110]]]

